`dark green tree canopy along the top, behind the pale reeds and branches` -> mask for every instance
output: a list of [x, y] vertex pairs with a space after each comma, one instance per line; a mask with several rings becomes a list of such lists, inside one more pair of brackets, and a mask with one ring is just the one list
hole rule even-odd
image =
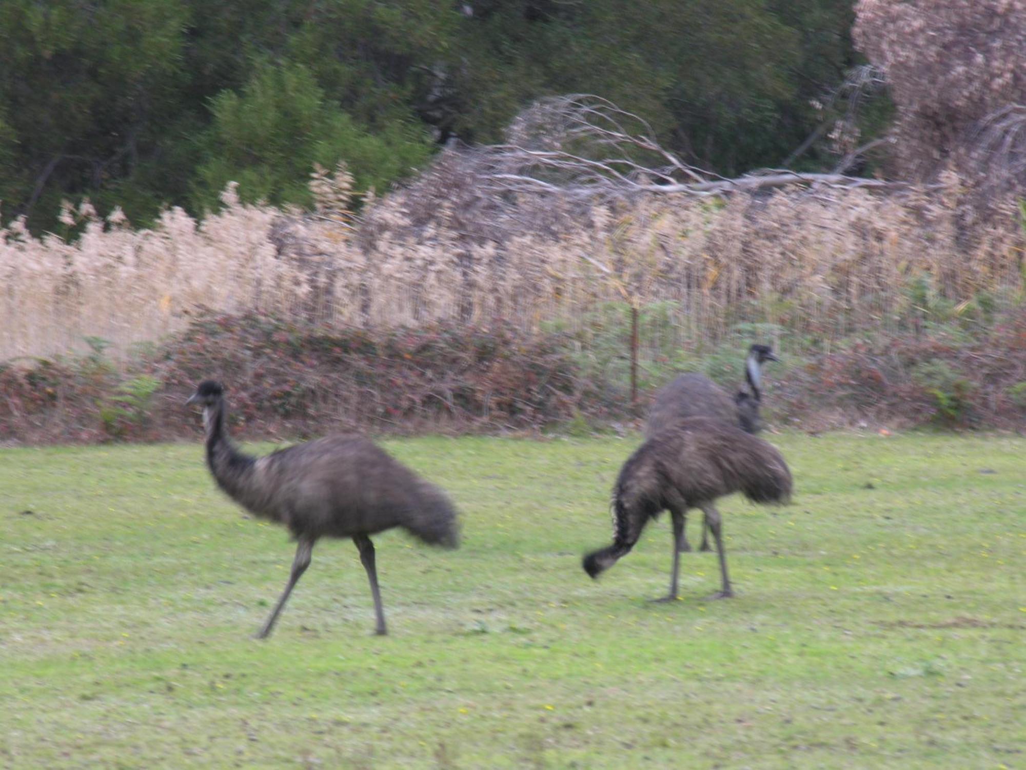
[[[201, 214], [359, 189], [450, 137], [495, 142], [541, 97], [591, 92], [707, 170], [781, 164], [858, 63], [854, 0], [5, 0], [0, 200], [48, 229], [64, 198]], [[814, 143], [797, 165], [835, 162]]]

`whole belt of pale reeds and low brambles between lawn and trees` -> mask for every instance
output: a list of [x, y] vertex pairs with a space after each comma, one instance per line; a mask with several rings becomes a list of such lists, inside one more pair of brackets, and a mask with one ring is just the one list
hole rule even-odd
[[[182, 394], [233, 390], [252, 435], [537, 430], [630, 421], [630, 308], [643, 409], [674, 369], [741, 381], [739, 349], [782, 348], [768, 417], [1016, 427], [1026, 418], [1017, 209], [964, 228], [962, 188], [827, 185], [497, 199], [479, 157], [351, 211], [344, 170], [310, 215], [238, 202], [152, 230], [68, 211], [81, 237], [0, 239], [0, 435], [153, 439]], [[77, 218], [77, 220], [76, 220]], [[130, 355], [54, 355], [95, 336]], [[165, 339], [132, 351], [132, 343]], [[699, 357], [701, 354], [701, 359]], [[38, 356], [21, 358], [18, 356]]]

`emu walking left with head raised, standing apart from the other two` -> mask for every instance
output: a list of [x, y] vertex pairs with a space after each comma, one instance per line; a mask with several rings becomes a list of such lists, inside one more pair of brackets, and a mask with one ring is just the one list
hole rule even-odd
[[319, 438], [254, 458], [240, 453], [225, 430], [224, 388], [205, 380], [186, 403], [203, 407], [206, 462], [218, 486], [258, 516], [284, 525], [299, 546], [278, 604], [256, 633], [274, 628], [288, 594], [310, 566], [321, 537], [349, 537], [360, 551], [374, 599], [377, 632], [386, 633], [369, 535], [403, 527], [426, 543], [455, 548], [456, 511], [441, 490], [362, 436]]

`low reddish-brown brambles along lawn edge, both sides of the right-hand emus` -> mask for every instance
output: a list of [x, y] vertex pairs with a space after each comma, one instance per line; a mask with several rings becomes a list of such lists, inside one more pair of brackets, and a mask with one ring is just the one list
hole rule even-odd
[[[537, 431], [641, 416], [627, 383], [576, 350], [568, 335], [499, 323], [371, 333], [212, 316], [123, 369], [98, 354], [0, 365], [0, 440], [196, 438], [183, 401], [207, 378], [228, 386], [232, 430], [251, 438]], [[779, 427], [1026, 428], [1026, 306], [975, 338], [880, 335], [787, 360], [766, 373], [765, 414]]]

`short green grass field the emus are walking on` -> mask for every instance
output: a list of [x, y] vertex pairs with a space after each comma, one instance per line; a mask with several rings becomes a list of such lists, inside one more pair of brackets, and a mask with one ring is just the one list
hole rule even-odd
[[794, 504], [720, 506], [738, 598], [689, 553], [672, 605], [665, 516], [580, 567], [636, 437], [388, 441], [463, 547], [378, 538], [376, 638], [322, 541], [266, 642], [292, 545], [198, 444], [0, 451], [0, 767], [1026, 766], [1026, 441], [773, 438]]

